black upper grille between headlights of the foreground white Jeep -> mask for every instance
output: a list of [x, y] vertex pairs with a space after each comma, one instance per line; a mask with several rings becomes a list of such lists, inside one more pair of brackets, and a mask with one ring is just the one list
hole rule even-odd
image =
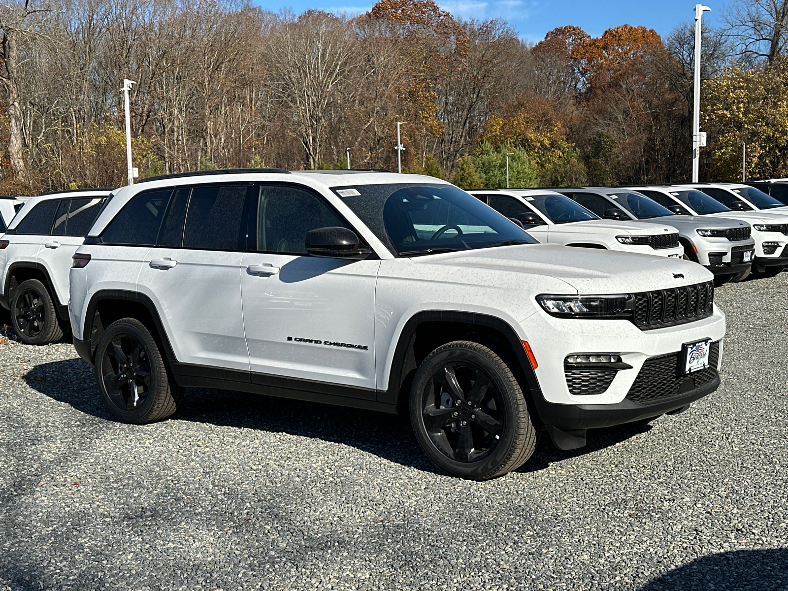
[[712, 315], [712, 281], [634, 294], [634, 323], [641, 330], [695, 322]]

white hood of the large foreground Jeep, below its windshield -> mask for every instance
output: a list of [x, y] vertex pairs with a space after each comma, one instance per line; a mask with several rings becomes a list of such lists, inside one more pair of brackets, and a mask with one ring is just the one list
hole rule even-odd
[[[480, 248], [411, 260], [435, 266], [435, 274], [440, 276], [447, 274], [447, 266], [484, 270], [487, 281], [494, 285], [516, 281], [516, 276], [530, 276], [532, 280], [536, 276], [549, 277], [552, 281], [544, 281], [545, 286], [553, 285], [555, 288], [555, 280], [559, 280], [567, 284], [566, 291], [559, 293], [577, 292], [581, 295], [648, 292], [712, 281], [713, 278], [704, 267], [678, 258], [558, 244]], [[449, 274], [462, 277], [469, 272], [463, 270]], [[539, 281], [535, 283], [538, 285]]]

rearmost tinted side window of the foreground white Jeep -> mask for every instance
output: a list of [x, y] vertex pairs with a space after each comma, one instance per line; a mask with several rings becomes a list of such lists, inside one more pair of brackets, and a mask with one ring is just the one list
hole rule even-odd
[[172, 192], [172, 189], [165, 189], [135, 195], [110, 221], [102, 234], [102, 241], [108, 244], [153, 246]]

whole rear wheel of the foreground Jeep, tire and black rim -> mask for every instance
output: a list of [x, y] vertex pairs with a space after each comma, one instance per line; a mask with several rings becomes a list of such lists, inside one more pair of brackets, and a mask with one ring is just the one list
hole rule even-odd
[[177, 411], [183, 388], [169, 376], [151, 332], [136, 318], [107, 327], [94, 369], [102, 402], [118, 421], [145, 425]]

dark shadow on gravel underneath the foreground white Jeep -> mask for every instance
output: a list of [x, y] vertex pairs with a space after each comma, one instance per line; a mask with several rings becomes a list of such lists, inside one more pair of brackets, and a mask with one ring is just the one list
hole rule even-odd
[[[33, 389], [85, 414], [113, 420], [96, 391], [92, 366], [81, 359], [44, 363], [24, 375]], [[388, 461], [426, 472], [440, 473], [418, 446], [407, 417], [329, 404], [288, 400], [246, 392], [188, 388], [173, 417], [269, 433], [310, 437], [368, 452]], [[519, 472], [544, 470], [551, 463], [596, 452], [650, 429], [644, 425], [619, 426], [589, 432], [585, 448], [562, 452], [543, 433], [533, 457]]]

